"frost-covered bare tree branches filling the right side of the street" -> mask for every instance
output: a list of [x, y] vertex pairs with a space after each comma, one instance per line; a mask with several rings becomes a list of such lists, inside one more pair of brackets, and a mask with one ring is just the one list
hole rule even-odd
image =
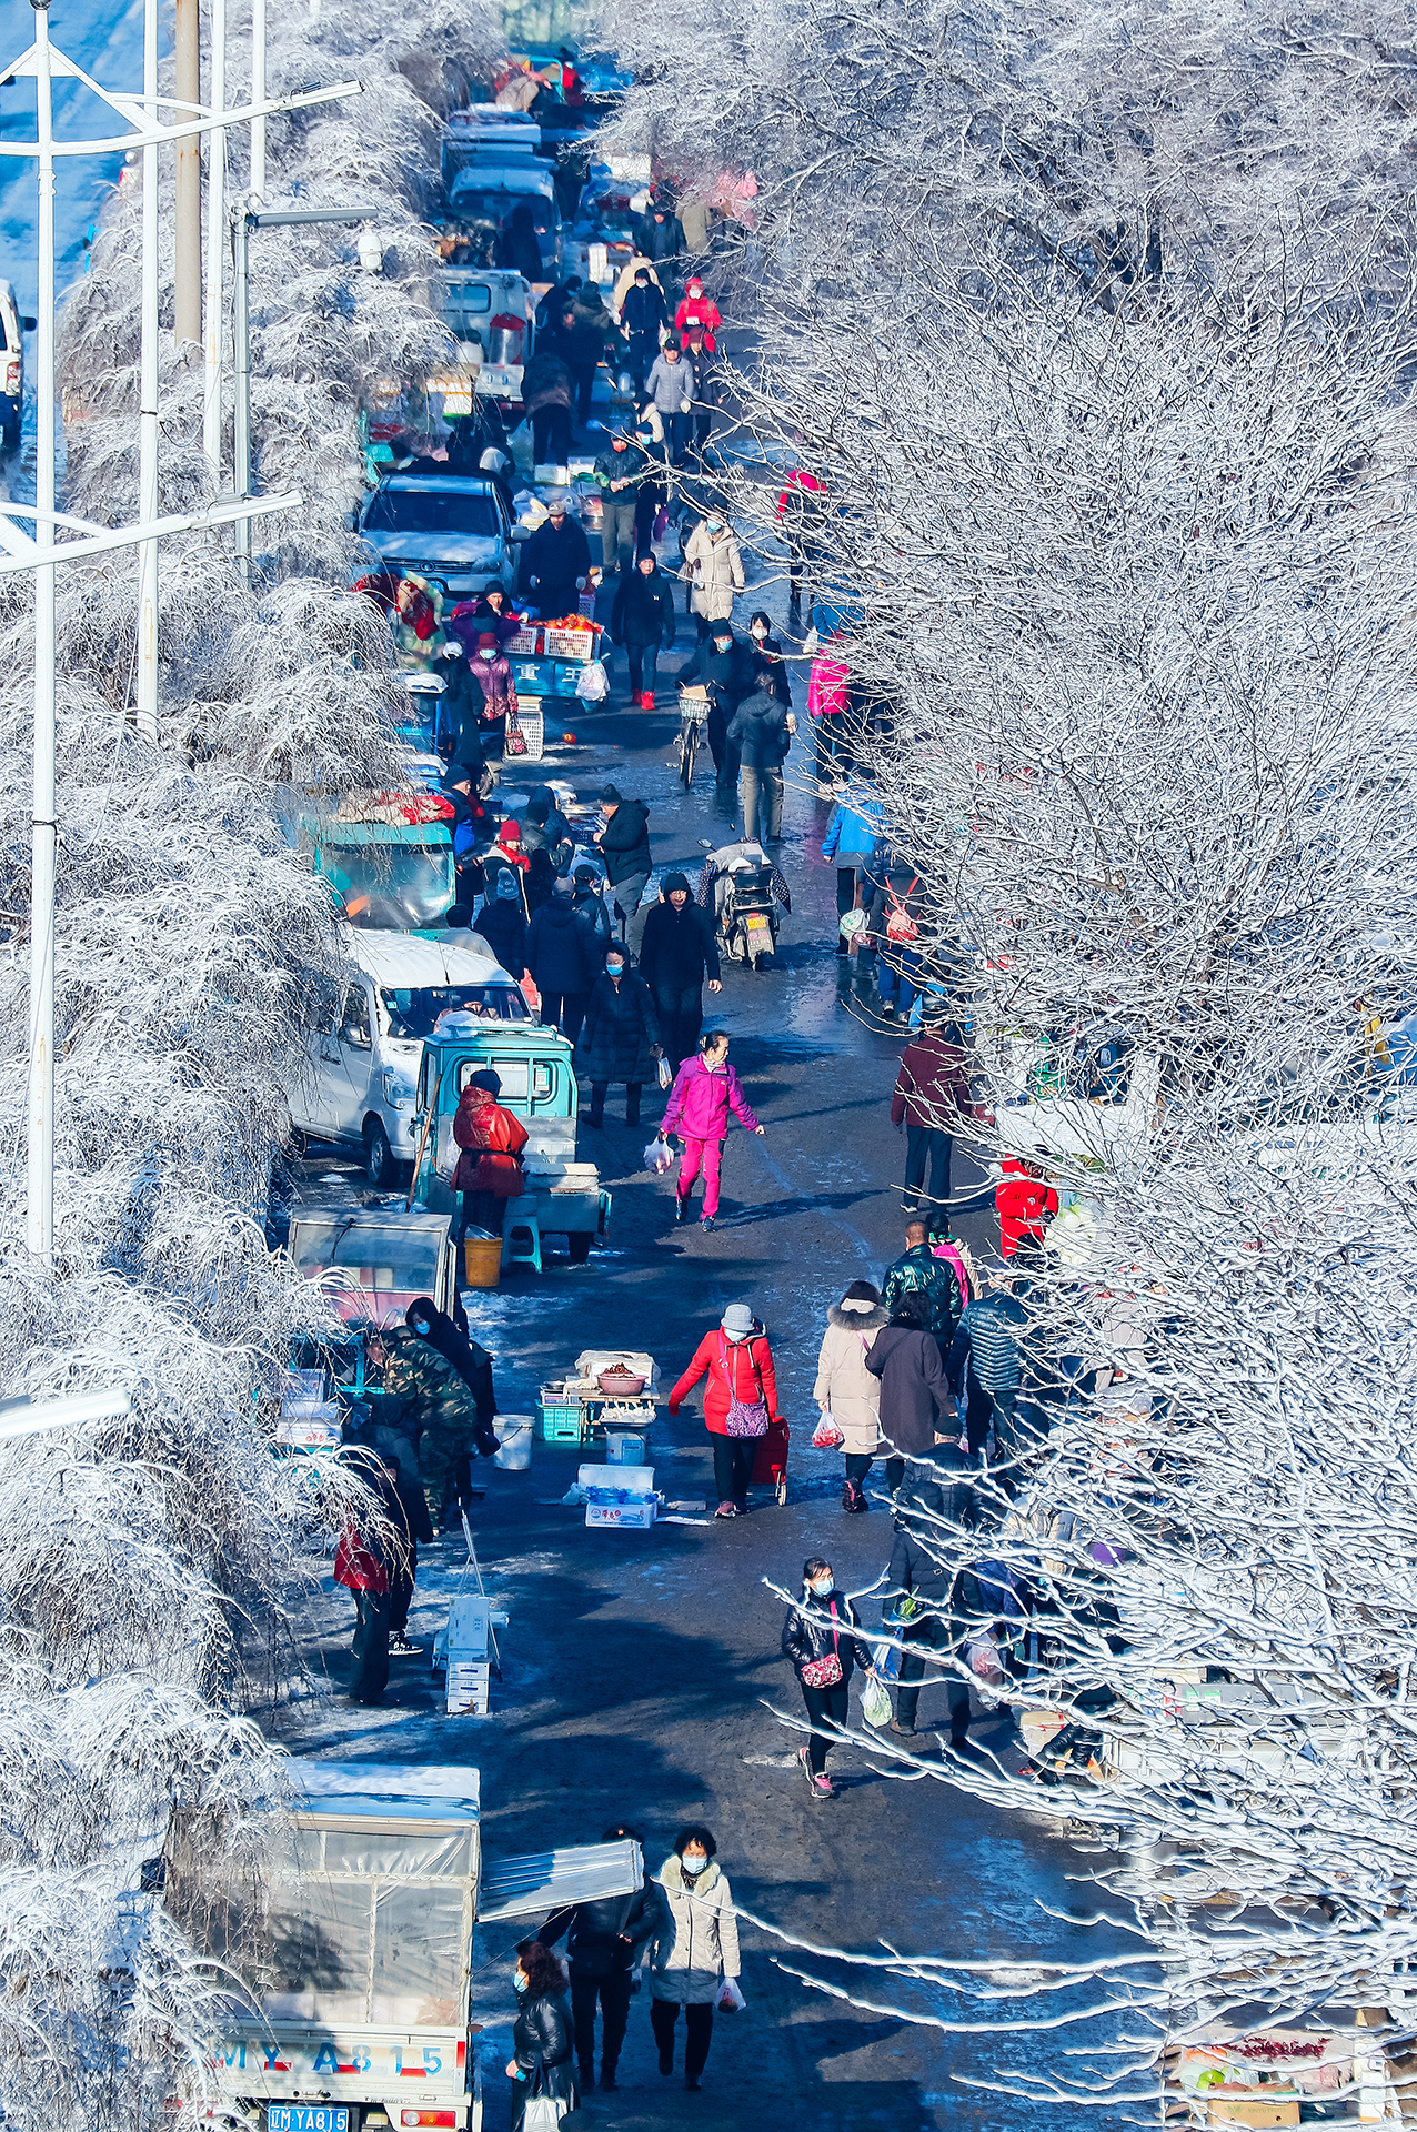
[[[799, 1949], [1151, 2104], [1234, 2019], [1413, 2038], [1417, 563], [1396, 15], [601, 11], [718, 260], [742, 405], [825, 486], [816, 620], [970, 1032], [974, 1151], [1063, 1211], [997, 1269], [1023, 1456], [910, 1518], [1031, 1774], [882, 1765], [1082, 1840], [1100, 1951]], [[782, 556], [780, 482], [727, 488]], [[784, 1601], [791, 1595], [782, 1595]], [[897, 1635], [899, 1631], [889, 1631]], [[1029, 1657], [1029, 1637], [1036, 1637]], [[791, 1723], [797, 1723], [795, 1714]], [[763, 1921], [767, 1925], [767, 1921]], [[767, 1929], [776, 1929], [767, 1925]], [[782, 1938], [782, 1934], [780, 1934]], [[801, 1951], [816, 1964], [801, 1966]], [[846, 1970], [842, 1968], [846, 1964]], [[852, 1978], [852, 1966], [869, 1976]], [[1050, 2074], [1014, 2032], [1057, 2032]]]

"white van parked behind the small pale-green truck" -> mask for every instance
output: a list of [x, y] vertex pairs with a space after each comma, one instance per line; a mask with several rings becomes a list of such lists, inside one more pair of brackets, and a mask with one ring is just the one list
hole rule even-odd
[[345, 934], [347, 979], [315, 1030], [290, 1092], [303, 1141], [364, 1149], [371, 1185], [418, 1153], [413, 1092], [424, 1036], [447, 1011], [486, 1021], [531, 1021], [522, 989], [499, 964], [416, 934]]

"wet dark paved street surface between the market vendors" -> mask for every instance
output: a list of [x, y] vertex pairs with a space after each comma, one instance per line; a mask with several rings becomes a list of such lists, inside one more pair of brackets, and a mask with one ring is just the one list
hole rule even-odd
[[[622, 682], [620, 663], [616, 704]], [[797, 693], [801, 701], [805, 689]], [[667, 768], [675, 716], [612, 710], [595, 721], [575, 712], [567, 723], [582, 746], [565, 755], [565, 772], [552, 763], [552, 774], [569, 776], [584, 797], [614, 774], [626, 797], [650, 802], [656, 866], [697, 861], [699, 838], [716, 838], [720, 819], [710, 778], [684, 797]], [[782, 863], [793, 917], [778, 968], [724, 972], [714, 1019], [733, 1032], [733, 1057], [767, 1138], [733, 1130], [720, 1228], [712, 1237], [697, 1224], [673, 1228], [671, 1183], [641, 1168], [652, 1126], [626, 1128], [622, 1092], [612, 1094], [605, 1132], [582, 1128], [582, 1147], [614, 1190], [609, 1249], [577, 1271], [556, 1258], [541, 1279], [511, 1273], [496, 1294], [467, 1294], [473, 1337], [496, 1356], [499, 1405], [526, 1414], [539, 1382], [588, 1345], [646, 1345], [671, 1384], [724, 1305], [748, 1301], [767, 1324], [795, 1431], [788, 1505], [763, 1501], [746, 1522], [727, 1527], [592, 1533], [582, 1512], [558, 1507], [580, 1454], [537, 1443], [528, 1473], [479, 1471], [488, 1492], [475, 1514], [477, 1548], [488, 1588], [511, 1614], [492, 1714], [443, 1718], [424, 1665], [403, 1659], [394, 1661], [388, 1710], [320, 1699], [283, 1723], [281, 1738], [322, 1755], [475, 1761], [488, 1855], [595, 1838], [609, 1819], [635, 1816], [658, 1866], [675, 1825], [705, 1819], [735, 1897], [803, 1938], [867, 1951], [889, 1940], [901, 1951], [999, 1961], [1033, 1949], [1082, 1957], [1100, 1951], [1095, 1934], [1040, 1908], [1093, 1910], [1087, 1889], [1068, 1878], [1082, 1861], [1065, 1844], [982, 1812], [944, 1784], [893, 1782], [854, 1753], [833, 1757], [840, 1797], [816, 1804], [793, 1761], [801, 1735], [773, 1718], [773, 1710], [797, 1716], [801, 1699], [778, 1654], [780, 1603], [761, 1580], [791, 1584], [803, 1556], [822, 1550], [840, 1582], [859, 1588], [891, 1548], [886, 1512], [846, 1518], [840, 1456], [808, 1445], [827, 1305], [857, 1275], [880, 1279], [903, 1224], [903, 1143], [886, 1113], [901, 1038], [872, 1032], [837, 991], [835, 881], [816, 849], [825, 819], [827, 804], [805, 789], [803, 765], [786, 808]], [[646, 1115], [656, 1119], [658, 1104], [646, 1104]], [[347, 1166], [313, 1151], [305, 1190], [328, 1190], [330, 1181], [347, 1190], [349, 1179]], [[652, 1458], [675, 1499], [712, 1509], [697, 1411], [669, 1420], [661, 1409]], [[452, 1588], [452, 1544], [441, 1544], [437, 1571], [420, 1580], [411, 1629], [424, 1640]], [[867, 1618], [878, 1616], [872, 1610]], [[337, 1682], [347, 1629], [347, 1597], [337, 1593], [311, 1640], [315, 1671], [328, 1665]], [[944, 1716], [942, 1689], [925, 1691], [921, 1716]], [[499, 2025], [484, 2047], [496, 2132], [507, 2121], [505, 1955], [518, 1936], [499, 1927], [479, 1957], [482, 2017]], [[680, 2072], [661, 2081], [648, 2006], [637, 2002], [622, 2094], [590, 2098], [597, 2121], [727, 2128], [748, 2123], [748, 2109], [761, 2106], [769, 2113], [763, 2123], [820, 2132], [935, 2123], [995, 2132], [1053, 2128], [1072, 2115], [959, 2085], [1031, 2053], [1053, 2060], [1055, 2042], [942, 2040], [803, 1989], [773, 1968], [765, 1934], [746, 1929], [746, 1949], [748, 2013], [718, 2021], [703, 2094], [686, 2096]], [[872, 1989], [861, 1974], [848, 1989], [882, 2004], [893, 1996], [891, 1985]], [[916, 1996], [916, 2004], [929, 2002]]]

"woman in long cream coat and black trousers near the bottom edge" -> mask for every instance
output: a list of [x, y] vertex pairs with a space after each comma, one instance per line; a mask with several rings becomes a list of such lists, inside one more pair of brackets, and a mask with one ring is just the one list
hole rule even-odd
[[673, 2030], [684, 2008], [684, 2085], [699, 2089], [714, 2038], [714, 2006], [737, 1983], [733, 1889], [718, 1868], [714, 1831], [690, 1823], [654, 1876], [656, 1932], [650, 1953], [650, 2028], [658, 2070], [673, 2072]]

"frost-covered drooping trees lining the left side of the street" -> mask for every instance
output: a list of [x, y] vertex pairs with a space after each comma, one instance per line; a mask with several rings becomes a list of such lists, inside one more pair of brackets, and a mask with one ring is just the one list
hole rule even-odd
[[[232, 21], [232, 62], [239, 45]], [[388, 28], [354, 6], [271, 11], [275, 94], [347, 77], [364, 94], [273, 122], [268, 205], [369, 200], [384, 273], [358, 271], [349, 230], [251, 243], [258, 486], [307, 501], [258, 522], [249, 591], [215, 535], [164, 544], [160, 748], [124, 716], [134, 556], [58, 574], [53, 1275], [26, 1254], [21, 1196], [32, 608], [28, 584], [0, 593], [0, 1379], [38, 1401], [130, 1396], [124, 1422], [0, 1445], [0, 2102], [19, 2132], [139, 2132], [200, 2089], [224, 1978], [162, 1908], [168, 1819], [258, 1868], [283, 1782], [258, 1716], [300, 1691], [290, 1610], [349, 1507], [369, 1512], [339, 1454], [273, 1456], [273, 1367], [339, 1326], [264, 1232], [283, 1083], [337, 974], [328, 893], [281, 817], [292, 787], [403, 780], [388, 631], [345, 591], [345, 512], [369, 382], [447, 348], [428, 303], [437, 124], [492, 47], [479, 9]], [[237, 134], [228, 158], [230, 198]], [[226, 301], [230, 322], [230, 273]], [[64, 503], [104, 522], [136, 518], [136, 356], [124, 188], [62, 318]], [[230, 465], [230, 326], [226, 358]], [[200, 433], [200, 367], [164, 352], [162, 510], [211, 492]]]

